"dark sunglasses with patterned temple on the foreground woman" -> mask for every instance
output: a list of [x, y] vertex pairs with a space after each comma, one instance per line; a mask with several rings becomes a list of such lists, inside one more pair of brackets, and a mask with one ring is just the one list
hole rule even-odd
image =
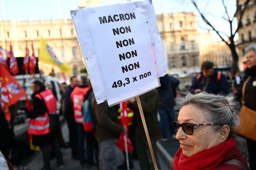
[[176, 133], [178, 132], [179, 128], [181, 127], [185, 134], [192, 135], [194, 132], [194, 126], [206, 126], [206, 125], [222, 125], [222, 124], [214, 124], [214, 123], [200, 123], [200, 124], [193, 124], [193, 123], [182, 123], [179, 124], [177, 121], [172, 122], [172, 126]]

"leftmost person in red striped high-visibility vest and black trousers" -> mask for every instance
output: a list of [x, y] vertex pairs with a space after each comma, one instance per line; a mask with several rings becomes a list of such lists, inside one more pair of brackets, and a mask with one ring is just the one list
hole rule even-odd
[[43, 152], [44, 169], [50, 170], [50, 147], [52, 147], [57, 158], [57, 165], [63, 167], [62, 152], [56, 140], [56, 133], [50, 132], [50, 114], [56, 114], [56, 98], [50, 89], [36, 80], [31, 84], [34, 91], [33, 109], [28, 113], [28, 134], [33, 137], [33, 144], [40, 146]]

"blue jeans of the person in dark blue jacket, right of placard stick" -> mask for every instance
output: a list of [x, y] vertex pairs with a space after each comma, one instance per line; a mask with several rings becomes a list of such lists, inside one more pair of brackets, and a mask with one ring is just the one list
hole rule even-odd
[[172, 127], [172, 121], [175, 121], [174, 108], [159, 109], [160, 115], [160, 130], [163, 138], [168, 137], [168, 129], [171, 135], [176, 134], [174, 128]]

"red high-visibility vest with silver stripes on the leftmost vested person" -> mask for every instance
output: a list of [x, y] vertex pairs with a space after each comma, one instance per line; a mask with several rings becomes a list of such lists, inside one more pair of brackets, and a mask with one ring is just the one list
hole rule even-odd
[[[50, 114], [56, 113], [56, 98], [50, 89], [36, 94], [35, 97], [44, 100]], [[31, 118], [29, 121], [28, 134], [44, 135], [50, 133], [50, 118], [48, 113]]]

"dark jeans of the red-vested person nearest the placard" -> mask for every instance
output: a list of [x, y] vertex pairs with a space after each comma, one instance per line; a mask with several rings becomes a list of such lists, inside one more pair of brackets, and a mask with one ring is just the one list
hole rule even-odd
[[77, 126], [77, 134], [78, 134], [77, 146], [78, 146], [79, 161], [80, 161], [80, 165], [84, 165], [86, 162], [85, 154], [84, 154], [84, 140], [86, 137], [86, 132], [84, 131], [83, 124], [76, 123], [76, 126]]

